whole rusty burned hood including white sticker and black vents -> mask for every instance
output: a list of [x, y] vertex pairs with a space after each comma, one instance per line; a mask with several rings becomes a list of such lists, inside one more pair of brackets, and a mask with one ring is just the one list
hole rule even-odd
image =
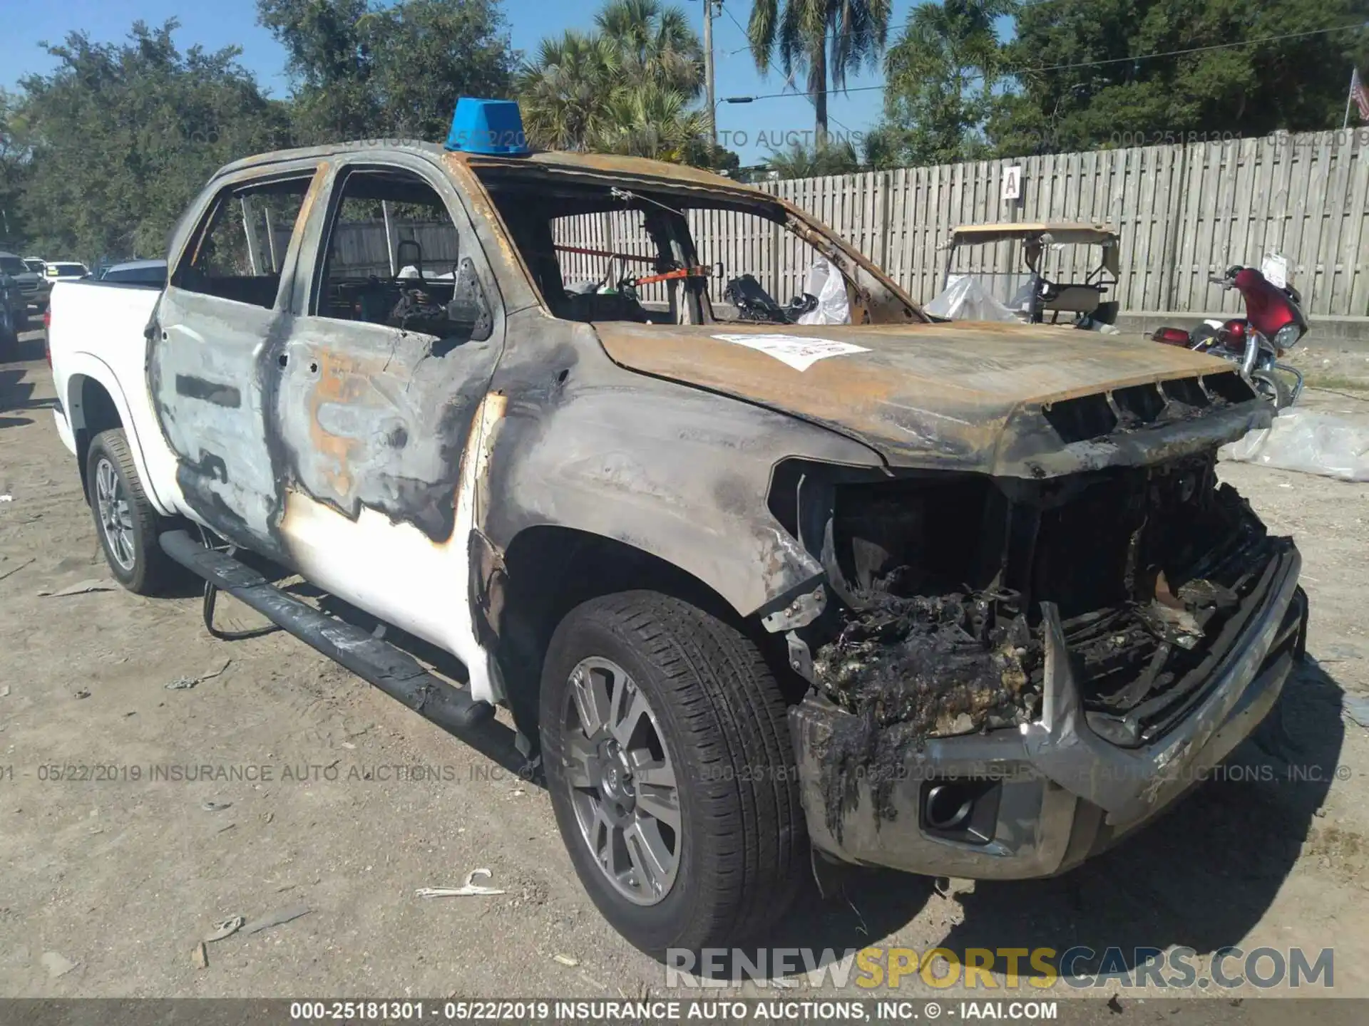
[[891, 466], [1045, 477], [1158, 462], [1265, 427], [1233, 365], [1013, 324], [594, 324], [630, 371], [821, 424]]

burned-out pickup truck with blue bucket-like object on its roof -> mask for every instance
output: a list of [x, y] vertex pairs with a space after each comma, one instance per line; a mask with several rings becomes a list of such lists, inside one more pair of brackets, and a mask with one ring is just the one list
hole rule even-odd
[[[189, 568], [460, 737], [507, 706], [652, 952], [764, 930], [810, 854], [1060, 873], [1270, 709], [1305, 601], [1214, 473], [1270, 416], [1229, 364], [934, 323], [791, 204], [509, 107], [238, 161], [164, 289], [55, 287], [126, 587]], [[723, 302], [719, 226], [764, 242], [726, 291], [823, 261], [850, 323]]]

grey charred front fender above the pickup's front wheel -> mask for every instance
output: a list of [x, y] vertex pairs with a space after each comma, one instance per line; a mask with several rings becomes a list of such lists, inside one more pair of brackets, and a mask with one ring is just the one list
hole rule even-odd
[[539, 345], [507, 350], [493, 382], [507, 404], [478, 517], [491, 551], [530, 528], [572, 528], [679, 568], [739, 616], [795, 599], [804, 609], [823, 568], [768, 505], [775, 468], [798, 458], [880, 473], [878, 454], [797, 417], [622, 368], [587, 324], [523, 316], [511, 339], [535, 332]]

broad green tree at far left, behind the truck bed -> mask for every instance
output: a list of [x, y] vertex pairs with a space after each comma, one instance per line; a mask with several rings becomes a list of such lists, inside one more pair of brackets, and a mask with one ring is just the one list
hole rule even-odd
[[70, 33], [57, 67], [22, 79], [29, 242], [45, 256], [162, 256], [218, 167], [287, 141], [281, 104], [238, 48], [179, 51], [175, 21], [136, 22], [123, 44]]

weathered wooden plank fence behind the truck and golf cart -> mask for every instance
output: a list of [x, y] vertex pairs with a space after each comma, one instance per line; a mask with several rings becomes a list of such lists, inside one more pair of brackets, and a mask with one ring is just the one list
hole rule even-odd
[[[1006, 167], [1021, 197], [1005, 201]], [[914, 300], [941, 289], [951, 227], [1002, 220], [1102, 222], [1121, 234], [1116, 298], [1123, 311], [1238, 311], [1207, 276], [1229, 264], [1287, 257], [1309, 315], [1369, 315], [1369, 130], [1277, 134], [1169, 146], [1057, 153], [834, 178], [767, 182], [815, 213]], [[812, 250], [780, 228], [728, 212], [690, 212], [706, 263], [724, 276], [754, 274], [780, 302], [802, 290]], [[639, 215], [567, 218], [561, 245], [649, 253]], [[999, 244], [975, 269], [1016, 271]], [[1054, 254], [1051, 271], [1083, 275], [1083, 248]], [[1094, 253], [1097, 256], [1097, 252]], [[568, 282], [602, 276], [601, 257], [563, 253]], [[648, 294], [646, 298], [661, 298]]]

